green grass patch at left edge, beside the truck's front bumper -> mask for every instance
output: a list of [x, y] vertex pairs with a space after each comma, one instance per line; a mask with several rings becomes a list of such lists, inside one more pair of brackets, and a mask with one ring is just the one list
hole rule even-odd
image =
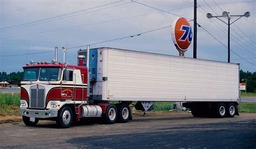
[[20, 99], [19, 93], [0, 93], [0, 116], [18, 115]]

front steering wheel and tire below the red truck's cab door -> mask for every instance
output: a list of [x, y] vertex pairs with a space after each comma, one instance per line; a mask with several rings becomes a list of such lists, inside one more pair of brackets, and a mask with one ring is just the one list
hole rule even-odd
[[73, 112], [69, 106], [64, 106], [58, 112], [56, 124], [59, 128], [68, 128], [71, 126], [73, 121]]

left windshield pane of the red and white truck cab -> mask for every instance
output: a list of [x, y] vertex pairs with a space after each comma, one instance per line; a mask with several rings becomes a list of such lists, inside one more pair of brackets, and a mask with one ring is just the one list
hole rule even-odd
[[39, 68], [24, 69], [23, 81], [35, 81], [38, 79]]

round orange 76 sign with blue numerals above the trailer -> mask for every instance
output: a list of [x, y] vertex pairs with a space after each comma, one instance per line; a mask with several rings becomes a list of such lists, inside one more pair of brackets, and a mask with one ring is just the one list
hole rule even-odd
[[192, 27], [186, 18], [179, 17], [172, 24], [172, 40], [179, 51], [186, 51], [192, 41]]

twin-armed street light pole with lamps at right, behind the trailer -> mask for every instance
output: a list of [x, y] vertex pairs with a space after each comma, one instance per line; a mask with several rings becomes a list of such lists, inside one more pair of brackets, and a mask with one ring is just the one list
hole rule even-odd
[[[219, 19], [219, 17], [227, 17], [227, 23], [222, 21], [221, 19], [219, 19], [221, 22], [224, 22], [225, 24], [228, 25], [228, 35], [227, 35], [227, 49], [228, 49], [228, 55], [227, 55], [227, 62], [230, 63], [230, 25], [233, 24], [235, 21], [237, 21], [238, 19], [240, 19], [241, 17], [250, 17], [251, 13], [249, 11], [245, 12], [244, 15], [230, 15], [230, 12], [224, 11], [222, 13], [222, 16], [213, 16], [211, 13], [207, 13], [206, 17], [207, 18], [217, 18]], [[232, 23], [230, 23], [230, 17], [239, 17], [238, 19], [236, 19], [235, 21], [233, 21]]]

